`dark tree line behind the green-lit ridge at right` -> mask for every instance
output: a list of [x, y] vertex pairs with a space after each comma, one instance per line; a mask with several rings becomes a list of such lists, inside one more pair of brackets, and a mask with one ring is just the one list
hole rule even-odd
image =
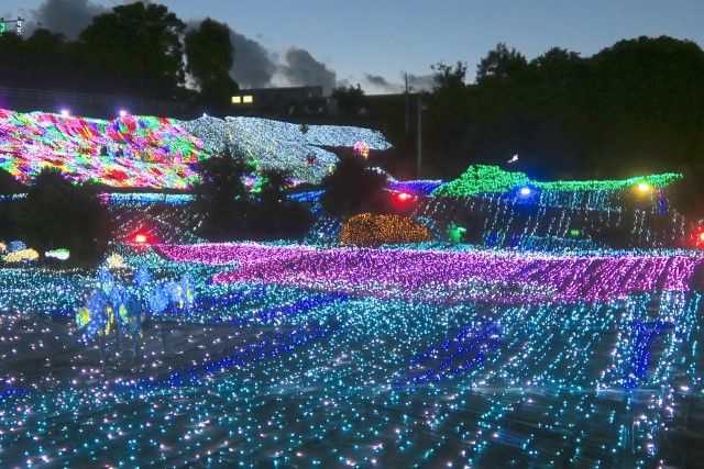
[[[473, 82], [462, 62], [435, 65], [433, 78], [424, 176], [453, 178], [513, 155], [537, 178], [704, 172], [704, 51], [693, 42], [639, 37], [586, 58], [553, 47], [532, 60], [498, 44]], [[402, 110], [394, 103], [380, 125], [414, 155], [416, 127], [406, 132]]]

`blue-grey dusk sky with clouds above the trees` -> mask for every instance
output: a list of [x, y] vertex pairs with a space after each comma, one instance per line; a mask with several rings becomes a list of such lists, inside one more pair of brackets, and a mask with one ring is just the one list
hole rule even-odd
[[[122, 1], [2, 0], [0, 13], [75, 35]], [[227, 22], [235, 43], [235, 79], [244, 87], [360, 83], [396, 91], [403, 72], [428, 86], [430, 65], [469, 64], [496, 43], [529, 59], [551, 46], [590, 56], [620, 38], [670, 35], [704, 44], [702, 0], [166, 0], [186, 22]], [[129, 34], [129, 32], [125, 32]], [[282, 72], [280, 70], [289, 70]], [[425, 77], [424, 77], [425, 76]]]

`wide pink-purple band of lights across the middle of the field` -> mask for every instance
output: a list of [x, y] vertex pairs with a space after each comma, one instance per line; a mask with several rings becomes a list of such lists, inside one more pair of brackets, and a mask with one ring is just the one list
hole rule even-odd
[[[369, 220], [374, 215], [367, 215]], [[391, 215], [398, 220], [404, 219]], [[237, 263], [215, 282], [256, 279], [304, 288], [322, 287], [388, 298], [497, 302], [600, 301], [652, 290], [689, 291], [702, 263], [690, 255], [571, 256], [502, 252], [416, 249], [315, 249], [290, 246], [160, 246], [176, 261]], [[389, 269], [388, 266], [403, 266]], [[315, 275], [314, 275], [315, 273]], [[491, 293], [487, 293], [491, 292]]]

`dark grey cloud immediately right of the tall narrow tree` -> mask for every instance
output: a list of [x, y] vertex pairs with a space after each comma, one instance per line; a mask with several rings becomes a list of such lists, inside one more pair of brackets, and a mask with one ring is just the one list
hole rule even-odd
[[272, 85], [278, 69], [275, 55], [261, 43], [230, 29], [234, 63], [230, 75], [242, 88], [264, 88]]

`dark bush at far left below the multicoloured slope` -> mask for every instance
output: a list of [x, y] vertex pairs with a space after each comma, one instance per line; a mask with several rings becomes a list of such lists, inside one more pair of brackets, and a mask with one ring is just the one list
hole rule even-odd
[[40, 252], [67, 248], [73, 261], [95, 263], [110, 241], [108, 208], [89, 186], [75, 186], [61, 172], [43, 170], [26, 199], [12, 203], [14, 235]]

